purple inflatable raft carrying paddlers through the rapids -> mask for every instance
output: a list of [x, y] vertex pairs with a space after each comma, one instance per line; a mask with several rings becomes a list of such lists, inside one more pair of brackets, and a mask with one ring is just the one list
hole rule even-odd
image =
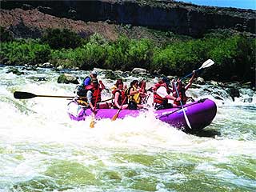
[[[214, 101], [204, 98], [184, 105], [184, 110], [186, 111], [186, 116], [190, 121], [192, 130], [194, 131], [202, 130], [206, 126], [210, 125], [210, 122], [213, 121], [216, 115], [217, 106]], [[95, 118], [113, 118], [114, 114], [117, 112], [118, 110], [115, 109], [98, 109], [96, 110]], [[137, 117], [140, 113], [146, 112], [145, 110], [121, 110], [118, 118], [125, 118], [126, 116]], [[90, 109], [85, 109], [83, 106], [79, 106], [77, 102], [73, 101], [68, 104], [68, 114], [71, 119], [75, 121], [82, 121], [90, 117], [92, 111]], [[186, 124], [181, 107], [166, 110], [155, 110], [154, 115], [155, 118], [178, 129], [190, 130]]]

